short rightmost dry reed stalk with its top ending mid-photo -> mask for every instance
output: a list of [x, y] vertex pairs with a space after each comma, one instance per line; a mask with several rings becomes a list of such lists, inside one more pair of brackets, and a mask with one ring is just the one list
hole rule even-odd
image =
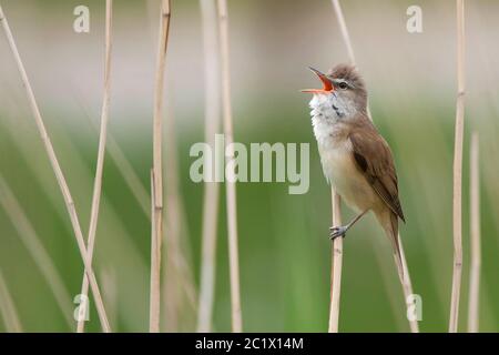
[[478, 333], [480, 295], [480, 155], [478, 133], [471, 135], [470, 149], [470, 234], [471, 266], [469, 272], [468, 333]]

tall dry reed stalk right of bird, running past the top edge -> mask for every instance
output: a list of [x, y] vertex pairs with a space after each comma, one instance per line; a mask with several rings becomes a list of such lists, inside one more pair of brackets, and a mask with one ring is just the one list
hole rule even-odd
[[454, 146], [454, 273], [449, 333], [457, 333], [462, 275], [462, 139], [465, 131], [465, 0], [457, 0], [457, 100]]

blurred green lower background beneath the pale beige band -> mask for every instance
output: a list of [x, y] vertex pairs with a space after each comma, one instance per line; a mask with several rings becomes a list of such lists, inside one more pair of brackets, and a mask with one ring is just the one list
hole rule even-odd
[[[307, 194], [289, 195], [287, 183], [237, 184], [243, 317], [244, 328], [249, 332], [323, 332], [327, 328], [330, 197], [316, 154], [307, 100], [308, 98], [297, 97], [293, 102], [273, 102], [258, 110], [236, 112], [236, 141], [310, 143], [310, 189]], [[425, 332], [444, 332], [449, 312], [452, 260], [454, 108], [431, 112], [431, 106], [435, 105], [428, 100], [426, 105], [415, 106], [411, 114], [403, 121], [380, 114], [378, 103], [374, 102], [373, 114], [396, 156], [401, 201], [407, 215], [401, 235], [414, 290], [422, 297], [424, 320], [420, 327]], [[45, 116], [49, 118], [49, 131], [85, 232], [98, 138], [81, 113], [72, 113], [81, 120], [71, 125], [59, 120], [63, 114], [68, 113], [51, 109]], [[238, 129], [240, 122], [245, 118], [251, 118], [253, 124], [251, 129], [242, 131]], [[0, 122], [1, 174], [49, 251], [69, 293], [75, 295], [81, 283], [82, 264], [61, 194], [32, 119], [2, 114]], [[147, 122], [147, 119], [143, 118], [142, 122]], [[149, 189], [151, 166], [150, 129], [149, 123], [123, 129], [114, 120], [110, 130], [145, 189]], [[193, 272], [195, 280], [198, 280], [203, 185], [189, 179], [190, 163], [193, 161], [189, 156], [189, 149], [192, 143], [203, 140], [202, 122], [194, 128], [177, 128], [176, 136], [181, 195], [189, 225], [185, 245], [192, 247], [190, 254]], [[468, 142], [467, 134], [466, 146]], [[468, 154], [465, 155], [467, 162]], [[466, 325], [469, 266], [467, 163], [464, 175], [465, 282], [461, 329]], [[224, 189], [221, 191], [214, 327], [216, 331], [228, 331], [230, 286]], [[114, 314], [111, 316], [113, 329], [146, 331], [149, 219], [110, 156], [106, 156], [103, 192], [95, 268], [98, 275], [102, 275], [103, 270], [112, 270], [115, 275], [118, 292], [114, 298], [110, 298], [109, 292], [103, 287], [104, 300]], [[490, 203], [492, 202], [487, 199], [481, 200], [483, 263], [480, 328], [495, 332], [498, 331], [499, 307], [492, 301], [499, 296], [499, 286], [495, 272], [498, 261], [493, 258], [497, 225]], [[349, 216], [350, 212], [345, 209], [344, 215]], [[0, 211], [0, 267], [24, 329], [70, 331], [38, 266], [20, 243], [12, 223], [14, 222], [7, 217], [4, 211]], [[371, 216], [348, 233], [344, 262], [340, 329], [408, 331], [389, 244]], [[184, 331], [189, 329], [189, 324], [194, 326], [192, 321], [189, 322]], [[4, 331], [3, 325], [0, 325], [0, 329]], [[89, 329], [100, 329], [94, 312], [91, 314]]]

